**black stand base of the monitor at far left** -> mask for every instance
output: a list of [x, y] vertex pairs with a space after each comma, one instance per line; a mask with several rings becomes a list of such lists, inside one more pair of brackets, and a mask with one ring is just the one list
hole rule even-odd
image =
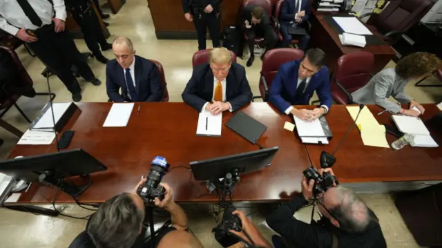
[[81, 195], [83, 191], [85, 191], [90, 184], [92, 184], [92, 178], [90, 175], [80, 175], [83, 180], [88, 180], [83, 185], [75, 185], [73, 181], [66, 181], [64, 178], [55, 178], [50, 171], [46, 171], [39, 175], [39, 181], [42, 184], [50, 185], [55, 187], [68, 195], [72, 195], [74, 197]]

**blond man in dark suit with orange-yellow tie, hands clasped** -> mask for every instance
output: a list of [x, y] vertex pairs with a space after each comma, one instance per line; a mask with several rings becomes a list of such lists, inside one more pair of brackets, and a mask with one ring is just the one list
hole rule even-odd
[[197, 111], [210, 111], [213, 115], [237, 111], [249, 103], [252, 95], [245, 68], [231, 61], [229, 50], [213, 48], [209, 63], [193, 69], [182, 93], [183, 101]]

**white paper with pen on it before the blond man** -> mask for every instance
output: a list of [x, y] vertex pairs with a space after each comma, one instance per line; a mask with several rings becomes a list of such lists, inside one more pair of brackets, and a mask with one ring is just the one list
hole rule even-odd
[[209, 111], [204, 111], [198, 116], [198, 126], [196, 135], [221, 136], [222, 114], [212, 115]]

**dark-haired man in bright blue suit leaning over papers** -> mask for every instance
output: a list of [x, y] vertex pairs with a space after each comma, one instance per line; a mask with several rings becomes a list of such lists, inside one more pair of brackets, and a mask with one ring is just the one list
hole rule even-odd
[[[302, 61], [289, 61], [278, 70], [269, 92], [269, 102], [280, 113], [292, 114], [302, 120], [316, 120], [332, 106], [329, 69], [324, 66], [325, 53], [313, 48], [307, 50]], [[309, 105], [314, 90], [320, 99], [320, 107], [313, 111], [297, 109], [293, 105]]]

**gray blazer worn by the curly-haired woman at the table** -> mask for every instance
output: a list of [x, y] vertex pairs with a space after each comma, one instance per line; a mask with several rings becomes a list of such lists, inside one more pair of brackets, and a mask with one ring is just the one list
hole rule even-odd
[[409, 103], [412, 97], [405, 95], [403, 92], [403, 88], [408, 82], [410, 81], [399, 77], [394, 68], [381, 70], [370, 79], [368, 84], [352, 93], [353, 102], [377, 104], [387, 111], [398, 113], [401, 111], [401, 106], [390, 101], [388, 97], [392, 96], [401, 104]]

